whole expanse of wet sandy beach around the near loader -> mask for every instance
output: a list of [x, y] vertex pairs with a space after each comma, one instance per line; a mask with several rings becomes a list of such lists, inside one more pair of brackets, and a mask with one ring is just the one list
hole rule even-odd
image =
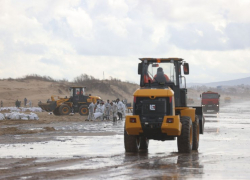
[[124, 121], [87, 122], [79, 115], [2, 121], [0, 179], [250, 179], [250, 102], [206, 114], [198, 152], [153, 141], [125, 153]]

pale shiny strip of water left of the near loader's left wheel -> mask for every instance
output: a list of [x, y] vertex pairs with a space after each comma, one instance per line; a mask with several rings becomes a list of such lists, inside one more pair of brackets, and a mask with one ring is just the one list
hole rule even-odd
[[26, 144], [0, 144], [0, 157], [72, 157], [112, 155], [124, 152], [123, 136], [57, 137], [56, 140]]

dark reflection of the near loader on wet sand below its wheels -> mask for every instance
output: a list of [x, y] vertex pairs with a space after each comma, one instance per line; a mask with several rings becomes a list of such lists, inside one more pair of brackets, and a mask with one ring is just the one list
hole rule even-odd
[[202, 178], [204, 173], [199, 155], [195, 151], [190, 154], [170, 153], [159, 156], [152, 156], [148, 152], [126, 153], [124, 162], [133, 162], [131, 171], [139, 173], [140, 179], [193, 179]]

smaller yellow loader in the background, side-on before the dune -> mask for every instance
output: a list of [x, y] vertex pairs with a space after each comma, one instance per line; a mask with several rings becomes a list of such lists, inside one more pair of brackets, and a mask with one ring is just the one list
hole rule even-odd
[[86, 96], [85, 87], [70, 87], [70, 97], [59, 98], [55, 100], [54, 96], [51, 96], [51, 101], [47, 103], [39, 103], [38, 106], [47, 112], [53, 112], [54, 115], [69, 115], [71, 112], [80, 115], [88, 115], [88, 106], [91, 102], [96, 103], [101, 100], [99, 96]]

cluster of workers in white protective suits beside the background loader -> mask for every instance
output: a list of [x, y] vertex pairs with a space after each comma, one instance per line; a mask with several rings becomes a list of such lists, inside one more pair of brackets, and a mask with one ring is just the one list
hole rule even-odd
[[114, 101], [107, 100], [106, 103], [104, 101], [97, 101], [97, 103], [94, 104], [92, 102], [89, 105], [89, 116], [87, 121], [93, 121], [96, 119], [100, 120], [122, 120], [123, 115], [125, 115], [126, 112], [126, 105], [120, 101], [119, 98], [117, 98]]

